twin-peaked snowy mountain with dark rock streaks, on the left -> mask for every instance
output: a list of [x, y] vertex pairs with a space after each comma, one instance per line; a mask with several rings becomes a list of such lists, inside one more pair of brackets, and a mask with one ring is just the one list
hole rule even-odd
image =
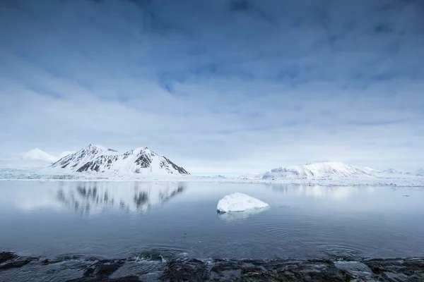
[[124, 154], [99, 145], [89, 145], [52, 164], [72, 172], [139, 173], [141, 175], [189, 175], [181, 166], [150, 149], [136, 148]]

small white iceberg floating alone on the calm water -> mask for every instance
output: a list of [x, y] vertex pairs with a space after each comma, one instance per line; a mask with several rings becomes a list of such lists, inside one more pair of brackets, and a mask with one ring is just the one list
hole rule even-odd
[[264, 207], [269, 207], [269, 204], [257, 200], [254, 197], [236, 192], [230, 195], [226, 195], [221, 200], [219, 200], [216, 209], [220, 213], [224, 212], [244, 212], [249, 209], [262, 209]]

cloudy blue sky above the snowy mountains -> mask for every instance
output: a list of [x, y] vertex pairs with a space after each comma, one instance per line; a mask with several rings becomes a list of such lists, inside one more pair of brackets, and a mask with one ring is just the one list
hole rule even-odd
[[424, 167], [424, 1], [0, 0], [0, 157]]

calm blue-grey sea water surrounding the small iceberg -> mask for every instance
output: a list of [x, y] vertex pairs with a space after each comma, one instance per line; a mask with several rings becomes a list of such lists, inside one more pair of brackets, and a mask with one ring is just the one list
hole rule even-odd
[[[217, 214], [244, 192], [270, 207]], [[424, 189], [0, 181], [0, 250], [55, 257], [424, 256]]]

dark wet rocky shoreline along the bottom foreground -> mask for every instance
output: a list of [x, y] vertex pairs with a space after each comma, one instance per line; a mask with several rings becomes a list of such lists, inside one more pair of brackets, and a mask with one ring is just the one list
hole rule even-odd
[[[27, 276], [25, 276], [27, 275]], [[25, 278], [26, 277], [26, 278]], [[424, 257], [404, 259], [100, 259], [0, 252], [0, 281], [424, 281]]]

